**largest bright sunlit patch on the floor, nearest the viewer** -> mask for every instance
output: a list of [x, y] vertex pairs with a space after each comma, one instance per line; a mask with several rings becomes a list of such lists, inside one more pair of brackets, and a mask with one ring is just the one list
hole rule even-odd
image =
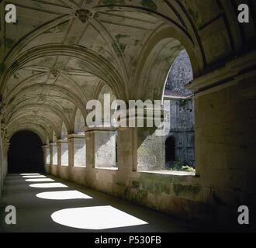
[[51, 215], [54, 222], [78, 229], [112, 229], [126, 226], [146, 225], [141, 219], [126, 214], [112, 206], [67, 208]]

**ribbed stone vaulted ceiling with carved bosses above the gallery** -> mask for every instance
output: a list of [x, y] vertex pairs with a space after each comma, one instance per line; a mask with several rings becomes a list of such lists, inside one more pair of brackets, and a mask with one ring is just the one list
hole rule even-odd
[[[251, 11], [255, 10], [254, 2]], [[5, 4], [17, 8], [4, 22]], [[116, 98], [161, 98], [186, 49], [195, 77], [254, 46], [255, 26], [237, 23], [233, 0], [2, 1], [1, 117], [5, 136], [31, 129], [61, 138], [77, 110], [109, 88]]]

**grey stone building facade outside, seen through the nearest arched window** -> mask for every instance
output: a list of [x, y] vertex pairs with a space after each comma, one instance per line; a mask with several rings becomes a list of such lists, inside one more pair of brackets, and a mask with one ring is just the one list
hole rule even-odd
[[178, 161], [195, 166], [195, 115], [192, 92], [185, 84], [192, 81], [192, 66], [186, 50], [178, 54], [171, 65], [164, 100], [169, 101], [168, 122], [170, 133], [165, 137], [165, 163], [172, 166]]

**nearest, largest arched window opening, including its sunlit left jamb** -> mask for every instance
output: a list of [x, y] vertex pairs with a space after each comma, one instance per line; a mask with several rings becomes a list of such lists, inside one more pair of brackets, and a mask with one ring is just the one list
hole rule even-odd
[[192, 64], [184, 47], [170, 57], [167, 76], [158, 72], [159, 78], [164, 78], [164, 136], [157, 135], [156, 129], [138, 128], [138, 171], [194, 174], [194, 100], [185, 88], [193, 80]]

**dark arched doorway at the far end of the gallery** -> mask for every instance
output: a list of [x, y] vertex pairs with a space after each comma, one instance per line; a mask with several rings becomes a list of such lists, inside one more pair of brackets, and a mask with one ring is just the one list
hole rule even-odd
[[20, 131], [12, 136], [8, 152], [8, 172], [44, 172], [42, 141], [36, 133]]

